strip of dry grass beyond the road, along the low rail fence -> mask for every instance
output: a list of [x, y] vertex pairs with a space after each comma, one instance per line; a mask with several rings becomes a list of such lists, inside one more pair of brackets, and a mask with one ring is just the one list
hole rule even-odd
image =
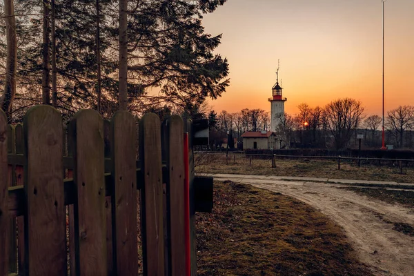
[[[384, 164], [382, 166], [364, 164], [358, 168], [353, 161], [342, 161], [341, 170], [337, 168], [337, 161], [321, 159], [276, 159], [276, 168], [271, 168], [268, 159], [252, 159], [237, 156], [228, 157], [226, 165], [225, 155], [210, 155], [196, 157], [196, 172], [201, 173], [232, 173], [249, 175], [278, 175], [288, 177], [324, 177], [330, 179], [359, 179], [397, 181], [414, 183], [414, 168], [404, 167], [403, 174], [397, 164]], [[405, 165], [405, 164], [404, 164]]]

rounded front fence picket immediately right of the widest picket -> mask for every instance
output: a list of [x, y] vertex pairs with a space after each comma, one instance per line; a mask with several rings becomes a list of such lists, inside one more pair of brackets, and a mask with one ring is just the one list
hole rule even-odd
[[73, 121], [76, 275], [106, 275], [103, 119], [95, 110], [81, 110]]

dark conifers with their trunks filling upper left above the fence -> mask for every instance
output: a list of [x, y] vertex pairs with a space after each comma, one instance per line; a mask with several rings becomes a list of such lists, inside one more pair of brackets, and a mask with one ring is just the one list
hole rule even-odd
[[226, 0], [0, 2], [0, 106], [19, 121], [43, 103], [70, 117], [195, 110], [228, 86], [228, 61], [203, 14]]

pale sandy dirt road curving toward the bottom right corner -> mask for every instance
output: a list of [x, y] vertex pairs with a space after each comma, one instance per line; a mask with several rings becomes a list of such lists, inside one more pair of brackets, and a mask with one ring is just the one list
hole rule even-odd
[[[260, 175], [214, 175], [295, 197], [328, 215], [339, 226], [375, 275], [414, 275], [414, 237], [393, 230], [395, 223], [414, 226], [414, 210], [338, 189], [338, 184]], [[343, 185], [341, 185], [343, 187]]]

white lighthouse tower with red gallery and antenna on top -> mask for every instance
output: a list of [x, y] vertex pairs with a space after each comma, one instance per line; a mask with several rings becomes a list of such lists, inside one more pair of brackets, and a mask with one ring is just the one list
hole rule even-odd
[[282, 87], [279, 86], [279, 65], [276, 71], [276, 83], [272, 88], [272, 97], [270, 101], [270, 131], [275, 132], [277, 126], [282, 123], [282, 116], [284, 116], [284, 102], [288, 99], [282, 97]]

